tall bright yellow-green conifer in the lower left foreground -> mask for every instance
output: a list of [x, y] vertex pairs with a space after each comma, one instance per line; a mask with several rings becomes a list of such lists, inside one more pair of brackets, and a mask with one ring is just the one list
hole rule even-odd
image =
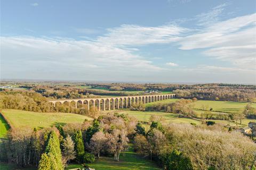
[[39, 169], [47, 170], [50, 164], [50, 168], [52, 170], [62, 170], [64, 169], [61, 160], [61, 151], [60, 151], [60, 141], [57, 137], [57, 134], [54, 131], [51, 131], [48, 134], [45, 154], [41, 156], [41, 160], [39, 162]]

